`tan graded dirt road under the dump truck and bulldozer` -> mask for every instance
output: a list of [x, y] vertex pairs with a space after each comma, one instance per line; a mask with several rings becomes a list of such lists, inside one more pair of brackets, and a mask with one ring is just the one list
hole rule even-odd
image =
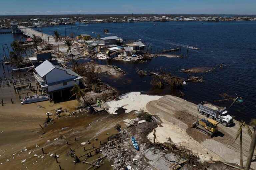
[[[160, 118], [165, 119], [166, 121], [172, 122], [175, 125], [183, 129], [190, 128], [186, 123], [182, 120], [177, 119], [177, 112], [184, 112], [184, 114], [191, 114], [195, 118], [198, 116], [199, 118], [203, 118], [202, 115], [197, 112], [197, 105], [188, 102], [184, 99], [175, 97], [175, 96], [164, 96], [156, 101], [151, 101], [146, 106], [147, 110], [151, 114], [156, 114]], [[218, 128], [220, 131], [223, 131], [222, 137], [213, 137], [212, 139], [201, 139], [201, 144], [210, 148], [216, 154], [219, 154], [222, 158], [228, 158], [228, 161], [232, 161], [235, 163], [239, 162], [239, 141], [236, 140], [234, 142], [236, 132], [238, 130], [238, 122], [235, 122], [234, 127], [224, 127], [223, 125], [219, 125]], [[226, 134], [226, 135], [225, 135]], [[192, 135], [192, 134], [191, 134]], [[200, 140], [199, 140], [200, 141]], [[243, 131], [243, 154], [246, 156], [248, 154], [249, 145], [250, 145], [250, 136], [247, 134], [247, 131]], [[222, 144], [221, 147], [218, 147], [218, 143]], [[216, 145], [217, 144], [217, 145]], [[213, 146], [213, 147], [210, 147]], [[226, 153], [225, 153], [226, 151]], [[245, 159], [244, 159], [245, 160]], [[255, 163], [253, 162], [253, 166], [255, 167]]]

